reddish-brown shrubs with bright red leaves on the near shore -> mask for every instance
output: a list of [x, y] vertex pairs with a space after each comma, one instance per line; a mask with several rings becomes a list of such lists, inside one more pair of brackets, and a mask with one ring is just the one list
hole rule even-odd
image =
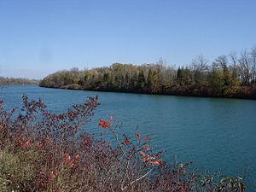
[[166, 164], [162, 152], [151, 150], [149, 136], [136, 131], [119, 137], [113, 117], [99, 120], [99, 138], [79, 131], [98, 105], [97, 96], [89, 97], [56, 114], [27, 96], [20, 111], [7, 112], [0, 102], [0, 191], [244, 190], [241, 178], [213, 183], [212, 177], [189, 172], [189, 164]]

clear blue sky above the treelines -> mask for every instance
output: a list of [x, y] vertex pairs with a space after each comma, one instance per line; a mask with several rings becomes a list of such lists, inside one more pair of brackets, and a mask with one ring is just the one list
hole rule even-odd
[[256, 0], [0, 0], [0, 76], [189, 65], [256, 45]]

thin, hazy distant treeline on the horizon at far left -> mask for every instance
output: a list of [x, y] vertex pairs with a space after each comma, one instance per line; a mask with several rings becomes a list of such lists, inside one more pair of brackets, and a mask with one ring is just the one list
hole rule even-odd
[[39, 81], [36, 79], [15, 79], [15, 78], [4, 78], [0, 77], [0, 85], [10, 84], [38, 84]]

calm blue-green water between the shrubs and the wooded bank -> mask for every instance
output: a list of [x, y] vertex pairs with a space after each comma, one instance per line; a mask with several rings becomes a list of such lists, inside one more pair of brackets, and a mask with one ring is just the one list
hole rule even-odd
[[54, 90], [36, 85], [4, 86], [0, 98], [6, 108], [20, 107], [21, 96], [41, 97], [51, 111], [61, 112], [87, 96], [100, 98], [96, 118], [84, 130], [96, 132], [98, 119], [113, 115], [122, 130], [136, 129], [152, 137], [165, 159], [175, 154], [183, 163], [193, 161], [201, 170], [242, 176], [248, 168], [248, 191], [256, 172], [256, 101], [183, 96], [150, 96], [82, 90]]

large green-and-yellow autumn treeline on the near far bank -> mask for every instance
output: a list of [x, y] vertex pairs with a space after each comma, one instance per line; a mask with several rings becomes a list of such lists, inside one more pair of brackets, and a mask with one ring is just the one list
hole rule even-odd
[[181, 96], [256, 98], [256, 47], [220, 55], [210, 62], [198, 55], [189, 66], [170, 67], [160, 60], [140, 66], [113, 63], [50, 74], [41, 86]]

